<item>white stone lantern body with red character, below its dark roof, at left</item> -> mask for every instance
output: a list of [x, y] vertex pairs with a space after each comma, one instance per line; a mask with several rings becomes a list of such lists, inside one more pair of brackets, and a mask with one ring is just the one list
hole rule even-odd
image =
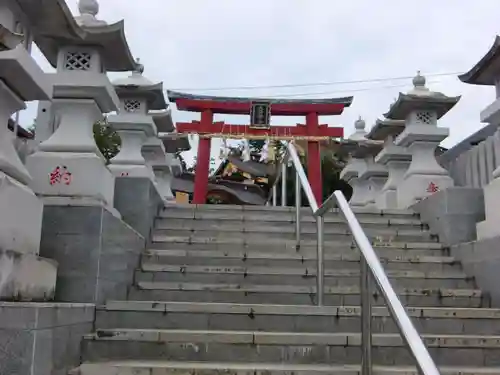
[[102, 113], [116, 110], [119, 104], [99, 49], [61, 48], [57, 73], [51, 76], [56, 130], [27, 158], [34, 190], [52, 205], [103, 206], [118, 216], [113, 209], [114, 176], [93, 134]]

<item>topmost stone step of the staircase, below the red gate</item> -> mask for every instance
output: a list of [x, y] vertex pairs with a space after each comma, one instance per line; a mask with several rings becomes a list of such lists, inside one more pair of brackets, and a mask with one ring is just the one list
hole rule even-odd
[[[354, 213], [361, 223], [373, 218], [383, 219], [414, 219], [420, 220], [417, 213], [410, 210], [376, 210], [366, 208], [353, 208]], [[295, 220], [295, 207], [266, 207], [266, 206], [231, 206], [231, 205], [203, 205], [180, 206], [170, 205], [165, 207], [159, 217], [185, 218], [185, 219], [231, 219], [231, 220], [257, 220], [257, 221], [289, 221]], [[332, 209], [325, 214], [325, 220], [343, 215], [338, 209]], [[301, 220], [315, 221], [309, 207], [301, 208]]]

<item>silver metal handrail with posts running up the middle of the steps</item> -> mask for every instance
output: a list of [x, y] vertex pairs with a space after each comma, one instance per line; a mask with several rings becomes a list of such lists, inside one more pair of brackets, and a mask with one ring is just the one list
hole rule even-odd
[[365, 232], [361, 228], [354, 212], [351, 210], [349, 203], [344, 197], [344, 194], [337, 190], [335, 191], [320, 207], [318, 207], [316, 198], [314, 197], [311, 185], [306, 177], [302, 163], [300, 162], [297, 150], [292, 142], [288, 143], [288, 153], [295, 167], [295, 199], [296, 199], [296, 239], [297, 248], [300, 247], [300, 200], [301, 200], [301, 187], [304, 190], [309, 206], [311, 207], [312, 214], [316, 218], [317, 223], [317, 271], [316, 271], [316, 294], [317, 304], [323, 305], [324, 294], [324, 236], [323, 224], [324, 215], [328, 212], [335, 203], [342, 210], [347, 224], [353, 234], [354, 240], [361, 251], [361, 271], [360, 271], [360, 292], [361, 292], [361, 346], [362, 346], [362, 374], [372, 374], [372, 329], [371, 329], [371, 280], [375, 279], [382, 296], [384, 297], [392, 318], [399, 328], [399, 332], [403, 337], [410, 353], [417, 363], [417, 367], [422, 375], [440, 375], [432, 357], [427, 350], [422, 338], [418, 334], [415, 326], [413, 325], [410, 317], [408, 316], [403, 304], [394, 291], [387, 274], [385, 273], [380, 260], [373, 250], [373, 247], [366, 237]]

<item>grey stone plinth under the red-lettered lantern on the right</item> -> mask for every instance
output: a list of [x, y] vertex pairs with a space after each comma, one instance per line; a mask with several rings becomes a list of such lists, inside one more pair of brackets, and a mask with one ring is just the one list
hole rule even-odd
[[446, 246], [476, 239], [476, 223], [484, 219], [483, 190], [451, 187], [411, 207]]

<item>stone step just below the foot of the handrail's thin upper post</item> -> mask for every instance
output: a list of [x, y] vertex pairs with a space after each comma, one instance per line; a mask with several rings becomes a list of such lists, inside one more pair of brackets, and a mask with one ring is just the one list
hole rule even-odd
[[[269, 266], [269, 267], [316, 267], [316, 249], [301, 249], [289, 252], [263, 252], [259, 250], [158, 250], [148, 249], [142, 254], [145, 263], [193, 265], [193, 266]], [[339, 249], [337, 249], [339, 250]], [[385, 269], [415, 271], [455, 271], [460, 264], [453, 257], [413, 255], [402, 251], [398, 255], [391, 248], [375, 248]], [[346, 248], [345, 254], [325, 254], [325, 268], [345, 269], [359, 268], [360, 255], [356, 249]]]

